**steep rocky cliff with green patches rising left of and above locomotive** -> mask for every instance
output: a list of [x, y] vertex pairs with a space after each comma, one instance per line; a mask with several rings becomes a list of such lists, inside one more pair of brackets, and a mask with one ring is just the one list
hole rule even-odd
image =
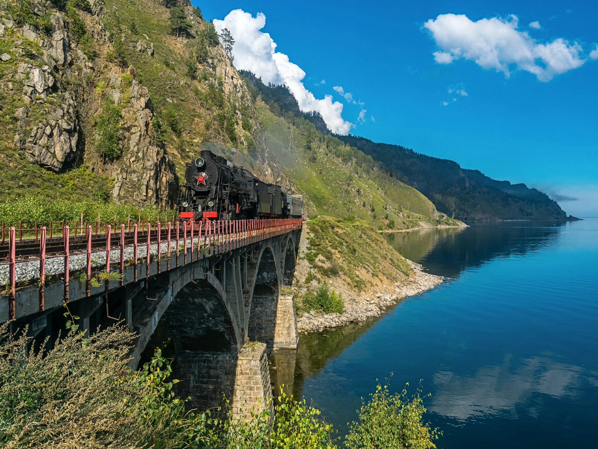
[[0, 199], [59, 195], [58, 174], [97, 180], [79, 195], [171, 207], [204, 141], [263, 152], [245, 83], [195, 8], [176, 38], [162, 2], [129, 19], [118, 1], [55, 1], [0, 2]]

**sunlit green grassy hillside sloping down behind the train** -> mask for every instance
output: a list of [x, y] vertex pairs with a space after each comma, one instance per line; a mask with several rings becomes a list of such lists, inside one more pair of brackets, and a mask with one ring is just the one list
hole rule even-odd
[[325, 138], [306, 120], [294, 119], [298, 126], [292, 126], [261, 102], [256, 109], [268, 156], [282, 167], [280, 177], [291, 189], [304, 195], [308, 216], [355, 217], [376, 229], [388, 229], [389, 223], [394, 229], [411, 229], [446, 221], [422, 193], [390, 177], [356, 148]]

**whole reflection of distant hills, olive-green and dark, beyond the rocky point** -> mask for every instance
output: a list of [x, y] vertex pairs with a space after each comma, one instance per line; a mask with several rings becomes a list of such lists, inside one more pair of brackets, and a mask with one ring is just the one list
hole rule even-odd
[[[421, 263], [432, 274], [454, 277], [465, 268], [475, 268], [496, 257], [538, 250], [554, 241], [562, 226], [566, 223], [489, 223], [473, 225], [462, 232], [456, 228], [405, 232], [405, 236], [397, 234], [389, 243], [407, 259]], [[451, 232], [454, 230], [457, 232]], [[423, 256], [418, 257], [418, 254]]]

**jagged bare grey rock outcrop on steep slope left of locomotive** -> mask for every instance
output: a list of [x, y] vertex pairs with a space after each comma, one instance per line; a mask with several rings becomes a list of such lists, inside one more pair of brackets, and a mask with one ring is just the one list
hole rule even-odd
[[[96, 0], [93, 15], [81, 14], [97, 47], [109, 48], [108, 33], [99, 17], [102, 6]], [[42, 5], [38, 8], [39, 13], [44, 12]], [[123, 70], [101, 54], [90, 60], [71, 38], [65, 20], [60, 11], [54, 13], [47, 34], [29, 23], [14, 28], [11, 19], [2, 20], [0, 34], [6, 35], [10, 28], [17, 47], [0, 59], [12, 63], [17, 57], [14, 75], [19, 83], [2, 82], [0, 88], [23, 104], [15, 113], [15, 148], [31, 162], [56, 173], [87, 163], [96, 173], [114, 179], [115, 201], [172, 207], [178, 191], [175, 166], [164, 145], [152, 140], [154, 110], [147, 87], [136, 79], [132, 66]], [[28, 42], [35, 44], [27, 47]], [[153, 54], [152, 43], [139, 44], [139, 51]], [[123, 74], [127, 74], [126, 81]], [[105, 93], [96, 91], [100, 84], [106, 86]], [[120, 157], [109, 161], [94, 151], [99, 138], [94, 128], [105, 95], [112, 96], [122, 114]]]

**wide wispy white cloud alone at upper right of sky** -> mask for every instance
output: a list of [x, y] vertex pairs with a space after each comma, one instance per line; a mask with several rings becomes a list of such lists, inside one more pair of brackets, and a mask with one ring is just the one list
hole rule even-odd
[[518, 19], [514, 15], [507, 19], [491, 17], [472, 22], [463, 14], [440, 14], [428, 20], [424, 27], [440, 47], [441, 51], [433, 54], [441, 64], [464, 58], [484, 69], [503, 72], [507, 78], [515, 66], [533, 73], [540, 81], [550, 81], [555, 75], [585, 62], [578, 43], [569, 43], [563, 38], [538, 43], [527, 32], [517, 30]]

